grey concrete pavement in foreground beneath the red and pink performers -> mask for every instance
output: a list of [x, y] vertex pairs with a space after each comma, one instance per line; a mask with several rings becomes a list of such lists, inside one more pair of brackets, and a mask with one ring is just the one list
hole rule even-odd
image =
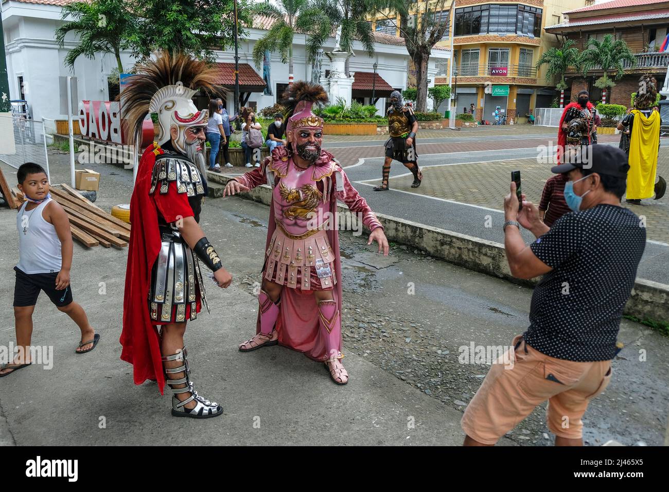
[[[66, 159], [52, 157], [53, 181], [66, 180]], [[2, 167], [13, 181], [15, 170]], [[101, 173], [99, 206], [109, 210], [128, 201], [130, 171], [91, 167]], [[189, 325], [187, 345], [197, 389], [221, 402], [224, 416], [206, 422], [171, 418], [169, 396], [159, 396], [155, 384], [132, 384], [130, 365], [118, 358], [127, 250], [76, 244], [74, 297], [102, 341], [92, 353], [76, 355], [78, 329], [41, 296], [33, 343], [54, 347], [54, 367], [28, 367], [0, 380], [0, 443], [460, 444], [462, 411], [488, 369], [459, 363], [460, 347], [508, 345], [527, 327], [531, 290], [397, 244], [389, 258], [381, 258], [364, 237], [341, 234], [351, 382], [338, 387], [300, 353], [282, 347], [237, 351], [254, 330], [252, 289], [267, 220], [266, 206], [239, 197], [207, 199], [203, 209], [201, 224], [234, 280], [227, 290], [207, 291], [211, 314]], [[7, 305], [17, 260], [14, 224], [15, 212], [1, 209], [0, 227], [10, 232], [0, 238], [0, 269], [7, 279], [0, 293]], [[14, 341], [11, 309], [1, 317], [0, 345], [7, 345]], [[613, 382], [585, 416], [586, 444], [611, 438], [661, 444], [669, 406], [669, 339], [628, 320], [619, 339], [626, 348], [613, 361]], [[551, 444], [544, 413], [538, 407], [500, 444]]]

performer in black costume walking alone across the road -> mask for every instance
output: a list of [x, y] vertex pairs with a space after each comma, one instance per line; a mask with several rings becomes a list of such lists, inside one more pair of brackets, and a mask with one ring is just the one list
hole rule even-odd
[[393, 90], [390, 94], [388, 108], [388, 131], [390, 138], [385, 142], [385, 161], [383, 161], [381, 185], [375, 186], [375, 191], [386, 191], [389, 189], [388, 177], [390, 175], [390, 163], [395, 159], [405, 165], [413, 174], [412, 188], [420, 186], [423, 173], [418, 167], [418, 153], [416, 152], [416, 132], [418, 131], [418, 120], [413, 114], [413, 109], [402, 102], [402, 94], [399, 90]]

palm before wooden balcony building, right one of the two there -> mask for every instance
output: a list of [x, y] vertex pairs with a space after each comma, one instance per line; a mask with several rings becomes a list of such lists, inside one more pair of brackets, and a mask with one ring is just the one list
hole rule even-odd
[[623, 62], [629, 62], [631, 66], [636, 65], [636, 58], [630, 47], [623, 39], [613, 39], [613, 35], [607, 34], [601, 42], [591, 37], [587, 40], [586, 50], [581, 53], [583, 76], [593, 68], [600, 69], [603, 76], [595, 81], [595, 87], [601, 89], [601, 102], [606, 104], [607, 88], [615, 86], [613, 80], [609, 79], [608, 72], [614, 72], [616, 80], [625, 75]]

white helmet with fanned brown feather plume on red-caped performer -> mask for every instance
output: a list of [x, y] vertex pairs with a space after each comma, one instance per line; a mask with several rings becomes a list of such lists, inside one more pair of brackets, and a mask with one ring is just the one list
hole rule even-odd
[[158, 143], [167, 142], [171, 138], [170, 128], [176, 125], [179, 128], [179, 137], [175, 139], [177, 150], [185, 152], [185, 130], [207, 124], [207, 110], [197, 110], [193, 95], [199, 89], [210, 94], [217, 92], [217, 69], [188, 55], [172, 55], [167, 51], [156, 60], [140, 62], [135, 68], [136, 75], [129, 78], [120, 95], [122, 115], [128, 120], [132, 135], [139, 135], [147, 114], [157, 112]]

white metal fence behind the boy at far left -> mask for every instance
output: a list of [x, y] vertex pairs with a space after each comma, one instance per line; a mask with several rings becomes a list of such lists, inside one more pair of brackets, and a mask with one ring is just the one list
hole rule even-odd
[[22, 116], [0, 116], [0, 161], [16, 169], [25, 162], [41, 165], [49, 174], [47, 141], [51, 141], [44, 122]]

